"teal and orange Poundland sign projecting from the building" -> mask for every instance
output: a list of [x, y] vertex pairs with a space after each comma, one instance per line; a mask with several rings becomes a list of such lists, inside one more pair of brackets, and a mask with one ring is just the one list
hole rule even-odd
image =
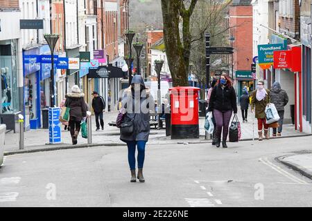
[[274, 64], [274, 52], [276, 50], [285, 50], [284, 44], [262, 44], [258, 46], [259, 66], [268, 69]]

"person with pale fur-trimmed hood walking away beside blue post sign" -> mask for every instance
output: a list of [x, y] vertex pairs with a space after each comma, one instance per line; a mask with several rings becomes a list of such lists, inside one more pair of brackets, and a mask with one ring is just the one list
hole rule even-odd
[[70, 108], [69, 127], [73, 145], [77, 144], [80, 123], [87, 117], [87, 106], [83, 97], [85, 97], [85, 94], [80, 92], [80, 88], [77, 85], [74, 85], [71, 88], [71, 93], [67, 93], [65, 102], [65, 106]]

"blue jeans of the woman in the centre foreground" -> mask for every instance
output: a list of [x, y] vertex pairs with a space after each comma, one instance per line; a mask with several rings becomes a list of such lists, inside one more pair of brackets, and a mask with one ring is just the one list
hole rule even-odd
[[146, 141], [129, 141], [128, 145], [128, 162], [130, 170], [135, 170], [135, 149], [137, 146], [137, 168], [143, 169]]

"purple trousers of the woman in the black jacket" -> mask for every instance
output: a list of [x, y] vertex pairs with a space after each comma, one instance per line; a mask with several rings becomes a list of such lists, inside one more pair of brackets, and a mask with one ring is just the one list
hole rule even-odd
[[216, 138], [221, 140], [221, 132], [223, 129], [223, 140], [227, 140], [229, 133], [229, 121], [232, 117], [232, 111], [218, 111], [214, 109], [214, 118], [216, 119]]

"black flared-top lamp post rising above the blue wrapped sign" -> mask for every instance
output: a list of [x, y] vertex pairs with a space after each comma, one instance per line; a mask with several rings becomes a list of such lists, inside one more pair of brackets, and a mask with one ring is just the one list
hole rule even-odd
[[49, 44], [51, 50], [51, 77], [50, 77], [50, 106], [53, 108], [55, 106], [55, 91], [54, 91], [54, 48], [55, 44], [58, 41], [60, 35], [53, 34], [53, 35], [44, 35], [44, 39]]

